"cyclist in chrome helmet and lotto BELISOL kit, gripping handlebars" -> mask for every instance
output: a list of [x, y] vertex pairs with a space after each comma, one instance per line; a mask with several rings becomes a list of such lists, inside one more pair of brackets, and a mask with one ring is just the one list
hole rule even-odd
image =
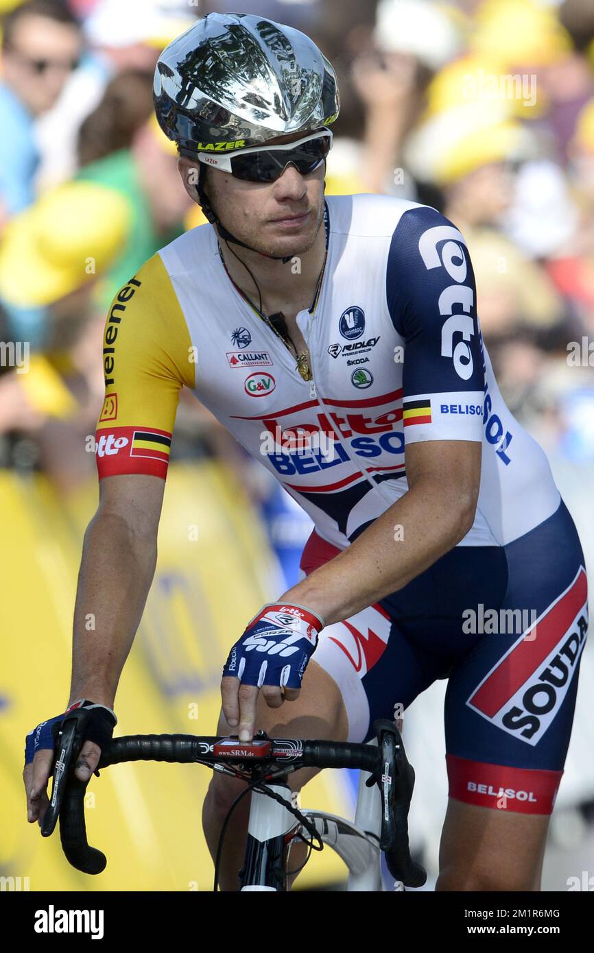
[[[502, 401], [464, 238], [420, 203], [324, 199], [336, 76], [297, 30], [203, 17], [161, 54], [154, 96], [210, 224], [149, 259], [107, 318], [71, 702], [92, 700], [112, 730], [185, 384], [316, 524], [304, 578], [231, 648], [217, 732], [369, 740], [375, 719], [447, 678], [437, 889], [538, 890], [587, 625], [584, 557], [542, 449]], [[518, 613], [509, 632], [501, 620]], [[213, 853], [241, 786], [213, 778]]]

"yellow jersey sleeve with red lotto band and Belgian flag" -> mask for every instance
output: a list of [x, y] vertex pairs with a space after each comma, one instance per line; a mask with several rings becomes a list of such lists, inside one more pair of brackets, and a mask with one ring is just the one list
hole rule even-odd
[[192, 341], [158, 254], [115, 295], [105, 322], [99, 479], [167, 476], [179, 391], [195, 386]]

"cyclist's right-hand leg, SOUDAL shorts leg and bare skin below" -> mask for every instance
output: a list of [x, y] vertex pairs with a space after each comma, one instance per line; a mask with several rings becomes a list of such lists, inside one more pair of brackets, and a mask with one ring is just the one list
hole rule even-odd
[[440, 890], [539, 890], [563, 777], [587, 630], [584, 556], [563, 505], [505, 557], [495, 625], [448, 682]]

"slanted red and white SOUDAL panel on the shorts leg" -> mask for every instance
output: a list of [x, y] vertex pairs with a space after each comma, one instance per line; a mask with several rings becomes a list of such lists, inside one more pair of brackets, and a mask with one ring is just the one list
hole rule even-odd
[[[536, 638], [526, 638], [532, 630]], [[563, 704], [586, 630], [587, 584], [581, 566], [572, 584], [521, 635], [466, 704], [502, 731], [538, 744]]]

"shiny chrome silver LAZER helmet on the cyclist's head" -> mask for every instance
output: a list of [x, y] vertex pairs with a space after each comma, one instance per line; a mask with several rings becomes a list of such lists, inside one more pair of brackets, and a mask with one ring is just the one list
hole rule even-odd
[[340, 101], [335, 71], [305, 33], [253, 13], [209, 13], [159, 56], [154, 108], [193, 156], [316, 130]]

